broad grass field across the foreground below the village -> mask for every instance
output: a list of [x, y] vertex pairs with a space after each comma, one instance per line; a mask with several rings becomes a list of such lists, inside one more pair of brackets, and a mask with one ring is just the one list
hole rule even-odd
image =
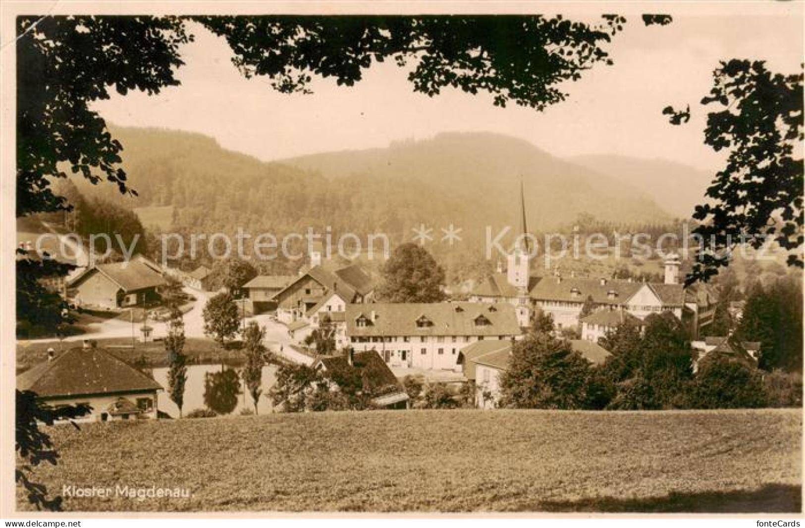
[[[800, 510], [799, 410], [374, 411], [52, 429], [67, 510]], [[27, 505], [18, 493], [19, 507]]]

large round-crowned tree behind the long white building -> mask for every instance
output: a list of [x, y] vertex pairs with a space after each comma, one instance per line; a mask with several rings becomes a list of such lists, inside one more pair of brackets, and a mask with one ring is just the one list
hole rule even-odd
[[444, 270], [427, 249], [400, 244], [383, 264], [378, 299], [382, 302], [444, 301]]

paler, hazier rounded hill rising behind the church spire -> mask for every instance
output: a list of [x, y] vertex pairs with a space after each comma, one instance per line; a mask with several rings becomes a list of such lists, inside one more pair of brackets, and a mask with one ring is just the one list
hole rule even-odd
[[554, 158], [527, 141], [494, 133], [442, 133], [386, 149], [348, 150], [283, 160], [327, 178], [427, 182], [435, 199], [459, 197], [510, 209], [526, 190], [530, 224], [537, 230], [571, 222], [582, 213], [616, 223], [664, 220], [662, 205], [642, 190], [584, 166]]

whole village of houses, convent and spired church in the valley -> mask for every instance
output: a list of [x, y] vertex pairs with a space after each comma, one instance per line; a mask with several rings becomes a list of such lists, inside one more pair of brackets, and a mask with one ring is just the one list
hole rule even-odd
[[[518, 218], [523, 236], [505, 262], [497, 263], [496, 272], [479, 280], [469, 293], [445, 295], [440, 302], [378, 301], [377, 281], [359, 264], [332, 263], [320, 243], [310, 244], [297, 276], [254, 276], [234, 292], [211, 291], [213, 271], [203, 265], [184, 272], [144, 256], [77, 268], [60, 280], [50, 277], [47, 287], [64, 295], [75, 309], [109, 313], [128, 309], [130, 321], [113, 318], [88, 334], [62, 338], [58, 352], [47, 346], [47, 356], [39, 356], [43, 361], [19, 375], [18, 387], [55, 405], [89, 404], [93, 411], [82, 420], [178, 418], [184, 402], [198, 411], [205, 402], [201, 373], [190, 377], [189, 397], [181, 395], [177, 408], [167, 392], [170, 365], [153, 361], [159, 353], [151, 354], [151, 362], [138, 353], [143, 347], [159, 350], [170, 331], [169, 310], [162, 301], [169, 283], [174, 292], [177, 284], [181, 289], [180, 318], [186, 338], [209, 341], [205, 306], [217, 295], [237, 293], [230, 302], [239, 321], [234, 321], [230, 337], [245, 332], [247, 323], [262, 329], [262, 350], [276, 364], [266, 363], [260, 394], [272, 411], [281, 408], [270, 405], [269, 394], [282, 364], [308, 366], [323, 374], [344, 368], [361, 372], [370, 378], [364, 385], [379, 394], [371, 398], [371, 408], [422, 407], [421, 399], [415, 401], [421, 387], [434, 385], [447, 393], [446, 407], [497, 407], [500, 378], [513, 347], [534, 331], [538, 320], [550, 321], [547, 331], [567, 339], [572, 352], [591, 366], [603, 365], [612, 355], [601, 346], [608, 336], [627, 327], [642, 333], [652, 314], [672, 317], [685, 329], [696, 354], [694, 371], [704, 358], [716, 356], [758, 366], [761, 343], [740, 342], [729, 334], [703, 337], [718, 299], [708, 285], [686, 289], [680, 284], [679, 255], [667, 255], [661, 283], [581, 277], [575, 272], [563, 276], [558, 270], [551, 276], [535, 276], [522, 197]], [[31, 247], [24, 242], [21, 246]], [[190, 368], [203, 370], [205, 379], [216, 370], [215, 364], [223, 367], [226, 358], [237, 364], [238, 355], [213, 353], [196, 358]], [[411, 385], [407, 380], [416, 380], [414, 392], [407, 391]], [[341, 387], [332, 383], [332, 389]], [[224, 414], [235, 407], [247, 412], [246, 384], [231, 390], [242, 399], [224, 408]], [[184, 408], [188, 410], [188, 404]]]

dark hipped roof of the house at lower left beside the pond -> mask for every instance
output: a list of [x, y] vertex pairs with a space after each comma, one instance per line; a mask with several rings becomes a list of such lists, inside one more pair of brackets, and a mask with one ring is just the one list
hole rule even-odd
[[100, 348], [76, 347], [17, 376], [17, 388], [42, 397], [159, 391], [162, 386]]

